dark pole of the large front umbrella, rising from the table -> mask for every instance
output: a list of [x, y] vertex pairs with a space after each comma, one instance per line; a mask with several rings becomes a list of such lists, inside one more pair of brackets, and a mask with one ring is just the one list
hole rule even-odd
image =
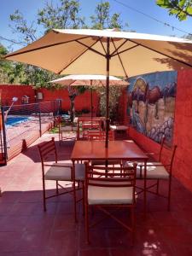
[[110, 55], [109, 55], [109, 38], [107, 38], [107, 76], [106, 76], [106, 141], [105, 141], [105, 148], [108, 148], [108, 130], [109, 130], [109, 113], [108, 113], [108, 98], [109, 98], [109, 61], [110, 61]]

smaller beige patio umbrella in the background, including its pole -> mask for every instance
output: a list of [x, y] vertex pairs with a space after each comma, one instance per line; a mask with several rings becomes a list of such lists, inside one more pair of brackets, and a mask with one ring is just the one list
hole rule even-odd
[[[49, 81], [51, 84], [61, 84], [63, 86], [90, 86], [90, 113], [91, 119], [93, 115], [93, 95], [92, 87], [93, 86], [105, 86], [107, 77], [105, 75], [68, 75], [61, 79], [55, 79]], [[118, 79], [113, 76], [109, 76], [109, 85], [121, 85], [126, 86], [128, 82]]]

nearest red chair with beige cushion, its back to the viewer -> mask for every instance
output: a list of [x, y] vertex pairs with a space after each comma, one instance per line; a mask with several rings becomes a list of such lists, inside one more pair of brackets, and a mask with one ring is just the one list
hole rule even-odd
[[[110, 172], [112, 170], [111, 167], [90, 166], [88, 162], [85, 162], [85, 170], [84, 212], [86, 241], [90, 242], [89, 207], [98, 207], [102, 212], [123, 225], [126, 230], [131, 231], [131, 244], [133, 244], [135, 233], [134, 209], [137, 197], [135, 191], [137, 164], [125, 167], [123, 174], [120, 173], [120, 168], [118, 167], [112, 173]], [[108, 177], [105, 176], [106, 172], [108, 172]], [[131, 225], [125, 224], [111, 212], [108, 212], [106, 207], [130, 208]]]

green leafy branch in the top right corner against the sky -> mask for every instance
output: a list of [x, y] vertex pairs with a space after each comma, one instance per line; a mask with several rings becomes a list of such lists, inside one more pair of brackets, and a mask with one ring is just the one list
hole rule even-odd
[[157, 5], [168, 9], [169, 15], [176, 15], [178, 20], [187, 20], [192, 17], [191, 0], [157, 0]]

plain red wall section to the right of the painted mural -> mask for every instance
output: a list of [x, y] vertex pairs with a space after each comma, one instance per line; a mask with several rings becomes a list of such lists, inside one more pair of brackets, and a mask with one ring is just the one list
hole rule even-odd
[[177, 74], [174, 143], [177, 161], [174, 174], [192, 191], [192, 71]]

